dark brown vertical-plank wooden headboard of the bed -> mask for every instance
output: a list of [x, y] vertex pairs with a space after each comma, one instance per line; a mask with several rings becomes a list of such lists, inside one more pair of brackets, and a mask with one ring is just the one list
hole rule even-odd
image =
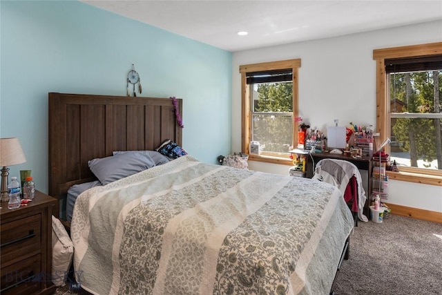
[[182, 145], [170, 98], [49, 93], [48, 129], [49, 195], [61, 202], [73, 184], [95, 180], [88, 160], [155, 150], [166, 139]]

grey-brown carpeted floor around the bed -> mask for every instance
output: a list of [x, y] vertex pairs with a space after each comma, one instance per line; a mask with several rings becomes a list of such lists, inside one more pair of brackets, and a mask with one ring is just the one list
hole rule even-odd
[[[442, 294], [442, 223], [390, 214], [382, 223], [358, 222], [350, 258], [334, 283], [336, 295]], [[87, 292], [59, 287], [56, 295]]]

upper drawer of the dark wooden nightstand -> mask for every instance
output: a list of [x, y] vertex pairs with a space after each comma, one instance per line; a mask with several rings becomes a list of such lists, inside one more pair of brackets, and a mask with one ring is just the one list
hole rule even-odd
[[41, 251], [41, 214], [1, 225], [1, 259], [4, 267], [8, 262], [16, 263]]

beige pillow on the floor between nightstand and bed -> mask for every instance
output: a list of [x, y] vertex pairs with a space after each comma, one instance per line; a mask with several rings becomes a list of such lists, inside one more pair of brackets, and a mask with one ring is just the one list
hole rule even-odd
[[64, 286], [70, 264], [73, 260], [74, 245], [61, 221], [52, 216], [52, 283]]

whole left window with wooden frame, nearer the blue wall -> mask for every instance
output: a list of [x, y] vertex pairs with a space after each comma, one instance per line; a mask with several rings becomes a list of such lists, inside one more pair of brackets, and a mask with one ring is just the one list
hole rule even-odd
[[300, 59], [240, 66], [242, 152], [249, 153], [251, 141], [261, 146], [261, 156], [250, 155], [253, 160], [281, 164], [269, 158], [286, 158], [289, 164], [298, 136], [299, 67]]

